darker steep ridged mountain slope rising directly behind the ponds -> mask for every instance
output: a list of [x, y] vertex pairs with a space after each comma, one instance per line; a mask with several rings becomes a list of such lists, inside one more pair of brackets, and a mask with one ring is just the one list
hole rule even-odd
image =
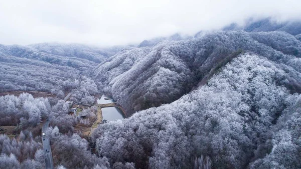
[[[253, 52], [300, 70], [300, 61], [292, 56], [300, 56], [300, 45], [285, 32], [216, 32], [198, 39], [163, 41], [152, 48], [120, 52], [99, 65], [94, 78], [131, 115], [175, 101], [206, 84], [220, 67], [242, 52]], [[283, 80], [283, 85], [290, 86], [291, 92], [300, 92], [301, 79], [298, 74], [292, 76], [295, 79]]]

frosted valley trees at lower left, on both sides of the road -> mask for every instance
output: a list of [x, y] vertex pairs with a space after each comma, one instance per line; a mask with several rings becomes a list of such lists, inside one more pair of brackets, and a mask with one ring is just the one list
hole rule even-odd
[[[86, 117], [92, 115], [90, 109], [84, 111]], [[19, 97], [0, 97], [0, 124], [16, 126], [18, 136], [9, 138], [0, 134], [0, 168], [45, 168], [47, 155], [42, 147], [42, 119], [50, 119], [47, 131], [53, 145], [55, 163], [67, 168], [106, 168], [106, 158], [99, 158], [89, 150], [86, 139], [74, 133], [73, 125], [84, 123], [80, 116], [68, 114], [69, 106], [63, 100], [50, 105], [48, 98], [33, 98], [28, 93]], [[81, 162], [79, 162], [81, 161]]]

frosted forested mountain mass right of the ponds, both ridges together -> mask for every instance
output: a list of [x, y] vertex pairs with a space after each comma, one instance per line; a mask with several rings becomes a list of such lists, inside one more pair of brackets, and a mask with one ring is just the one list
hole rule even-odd
[[96, 83], [131, 115], [97, 128], [98, 155], [136, 168], [300, 168], [300, 23], [268, 23], [98, 65]]

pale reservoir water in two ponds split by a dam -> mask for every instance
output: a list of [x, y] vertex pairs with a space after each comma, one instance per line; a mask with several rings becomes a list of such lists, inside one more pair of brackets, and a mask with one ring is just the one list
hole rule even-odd
[[[106, 100], [105, 98], [106, 96], [102, 95], [100, 99], [97, 99], [97, 104], [107, 104], [107, 103], [114, 102], [112, 99]], [[102, 112], [102, 120], [113, 121], [113, 120], [124, 119], [122, 110], [118, 107], [104, 107], [101, 108], [101, 112]]]

